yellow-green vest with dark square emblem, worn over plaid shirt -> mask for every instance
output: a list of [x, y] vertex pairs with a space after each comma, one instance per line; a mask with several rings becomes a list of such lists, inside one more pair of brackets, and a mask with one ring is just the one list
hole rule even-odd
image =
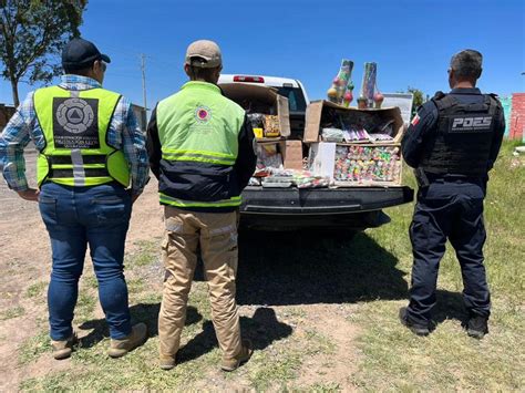
[[34, 92], [34, 110], [45, 139], [37, 162], [39, 186], [95, 186], [116, 180], [130, 185], [122, 151], [107, 143], [107, 128], [121, 95], [104, 89]]

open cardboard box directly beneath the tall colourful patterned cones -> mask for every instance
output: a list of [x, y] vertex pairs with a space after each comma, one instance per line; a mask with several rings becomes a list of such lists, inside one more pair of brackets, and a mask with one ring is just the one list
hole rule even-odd
[[395, 144], [404, 131], [399, 107], [346, 107], [313, 101], [306, 112], [303, 142]]

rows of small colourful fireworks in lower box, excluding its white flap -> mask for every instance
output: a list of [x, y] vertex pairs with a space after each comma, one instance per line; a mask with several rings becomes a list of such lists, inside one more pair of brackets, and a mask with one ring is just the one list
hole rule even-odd
[[400, 144], [338, 144], [333, 180], [336, 186], [400, 186]]

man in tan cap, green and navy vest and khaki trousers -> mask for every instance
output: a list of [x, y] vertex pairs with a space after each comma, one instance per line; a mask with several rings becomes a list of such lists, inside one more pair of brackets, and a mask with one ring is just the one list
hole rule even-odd
[[150, 165], [158, 179], [166, 227], [158, 317], [165, 370], [175, 366], [199, 246], [223, 351], [220, 368], [233, 371], [253, 353], [249, 341], [240, 337], [235, 277], [240, 193], [257, 158], [245, 111], [217, 86], [222, 68], [215, 42], [192, 43], [184, 64], [191, 81], [158, 102], [147, 127]]

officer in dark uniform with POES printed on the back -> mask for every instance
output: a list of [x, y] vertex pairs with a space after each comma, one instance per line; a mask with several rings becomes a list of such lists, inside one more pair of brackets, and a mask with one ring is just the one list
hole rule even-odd
[[428, 335], [440, 260], [446, 239], [455, 249], [469, 311], [469, 335], [487, 332], [491, 297], [483, 266], [486, 232], [483, 199], [505, 131], [503, 108], [494, 94], [475, 87], [482, 54], [464, 50], [452, 56], [451, 92], [437, 92], [418, 110], [402, 141], [406, 164], [415, 168], [419, 192], [410, 226], [414, 263], [409, 307], [401, 322]]

